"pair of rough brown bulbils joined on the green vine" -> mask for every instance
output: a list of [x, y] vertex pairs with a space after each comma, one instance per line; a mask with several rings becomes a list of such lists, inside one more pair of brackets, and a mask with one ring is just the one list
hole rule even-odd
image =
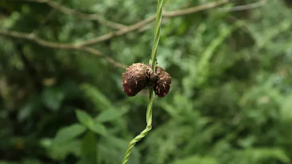
[[171, 87], [171, 77], [161, 66], [156, 66], [155, 73], [144, 63], [133, 63], [122, 74], [123, 91], [129, 96], [136, 96], [145, 88], [154, 89], [155, 95], [164, 97]]

